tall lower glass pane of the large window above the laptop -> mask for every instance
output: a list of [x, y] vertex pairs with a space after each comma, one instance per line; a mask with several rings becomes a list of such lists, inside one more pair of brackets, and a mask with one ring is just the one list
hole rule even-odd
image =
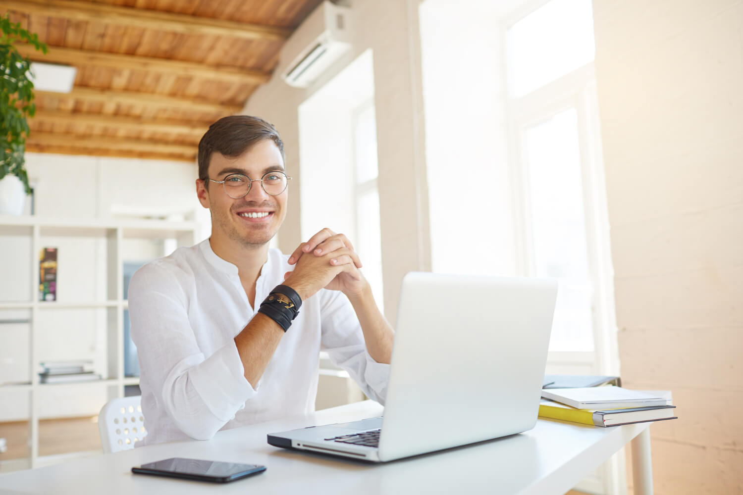
[[533, 275], [561, 282], [553, 350], [592, 350], [591, 273], [575, 108], [526, 128]]

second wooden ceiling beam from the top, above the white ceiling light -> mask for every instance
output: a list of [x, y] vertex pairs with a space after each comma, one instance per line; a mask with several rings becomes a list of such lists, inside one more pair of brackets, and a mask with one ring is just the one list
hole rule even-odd
[[114, 69], [128, 69], [155, 73], [192, 76], [202, 79], [233, 82], [236, 84], [263, 84], [270, 79], [270, 73], [262, 71], [241, 70], [219, 65], [204, 65], [181, 60], [159, 59], [149, 56], [123, 55], [121, 53], [104, 53], [76, 48], [49, 47], [48, 53], [37, 51], [32, 45], [16, 45], [22, 56], [35, 62], [51, 62], [79, 67], [91, 65]]

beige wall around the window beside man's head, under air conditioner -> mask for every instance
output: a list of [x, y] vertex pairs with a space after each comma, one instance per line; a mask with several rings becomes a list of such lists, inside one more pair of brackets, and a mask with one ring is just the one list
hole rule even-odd
[[[348, 56], [307, 90], [291, 88], [282, 81], [281, 69], [288, 62], [285, 56], [270, 81], [250, 97], [243, 112], [276, 125], [285, 142], [289, 174], [302, 180], [299, 105], [345, 65], [371, 48], [384, 307], [387, 317], [394, 321], [403, 275], [410, 270], [430, 268], [418, 0], [354, 0], [351, 3], [354, 30], [353, 47]], [[299, 184], [293, 183], [291, 188], [288, 216], [279, 234], [279, 247], [284, 252], [293, 251], [303, 240]], [[305, 194], [304, 189], [302, 194]]]

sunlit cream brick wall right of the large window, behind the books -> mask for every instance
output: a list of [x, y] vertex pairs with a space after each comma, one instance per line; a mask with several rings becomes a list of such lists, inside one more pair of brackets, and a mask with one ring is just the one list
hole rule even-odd
[[658, 494], [743, 489], [743, 2], [594, 0], [622, 378]]

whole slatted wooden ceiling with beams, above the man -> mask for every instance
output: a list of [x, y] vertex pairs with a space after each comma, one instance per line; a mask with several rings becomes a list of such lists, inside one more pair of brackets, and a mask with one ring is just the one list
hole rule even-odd
[[27, 151], [193, 161], [198, 141], [236, 114], [321, 0], [0, 0], [73, 65], [71, 93], [36, 91]]

